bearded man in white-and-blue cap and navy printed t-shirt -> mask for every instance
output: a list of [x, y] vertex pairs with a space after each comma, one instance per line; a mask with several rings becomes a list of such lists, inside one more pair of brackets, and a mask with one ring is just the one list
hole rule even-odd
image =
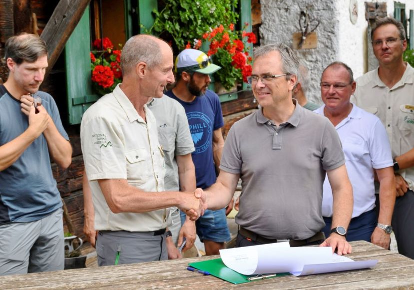
[[[220, 68], [204, 52], [185, 49], [175, 60], [177, 82], [166, 93], [180, 102], [187, 114], [195, 147], [192, 159], [197, 187], [202, 189], [216, 182], [224, 146], [220, 100], [216, 93], [207, 89], [211, 82], [210, 74]], [[196, 229], [200, 240], [204, 242], [206, 255], [218, 255], [219, 250], [224, 249], [224, 242], [230, 240], [225, 209], [207, 210], [196, 221]]]

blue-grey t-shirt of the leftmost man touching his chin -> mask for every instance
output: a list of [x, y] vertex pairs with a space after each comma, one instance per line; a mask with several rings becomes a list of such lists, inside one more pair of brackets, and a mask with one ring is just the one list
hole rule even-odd
[[[69, 140], [51, 95], [37, 91], [59, 133]], [[20, 101], [0, 85], [0, 146], [22, 134], [28, 117]], [[37, 221], [62, 207], [50, 167], [47, 142], [43, 134], [35, 139], [8, 168], [0, 171], [0, 225]]]

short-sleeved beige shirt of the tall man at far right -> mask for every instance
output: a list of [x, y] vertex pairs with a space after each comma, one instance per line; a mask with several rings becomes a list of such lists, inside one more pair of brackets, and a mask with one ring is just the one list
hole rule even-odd
[[[403, 77], [388, 88], [378, 75], [378, 68], [357, 79], [357, 89], [351, 101], [375, 114], [384, 124], [391, 143], [393, 157], [414, 147], [414, 69], [407, 63]], [[414, 190], [414, 167], [399, 174]]]

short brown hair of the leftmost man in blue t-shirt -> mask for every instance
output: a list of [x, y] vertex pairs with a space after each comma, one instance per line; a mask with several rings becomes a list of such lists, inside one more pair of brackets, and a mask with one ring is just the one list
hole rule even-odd
[[35, 34], [21, 33], [11, 36], [4, 45], [5, 59], [11, 58], [17, 64], [23, 61], [32, 63], [44, 55], [47, 55], [46, 43]]

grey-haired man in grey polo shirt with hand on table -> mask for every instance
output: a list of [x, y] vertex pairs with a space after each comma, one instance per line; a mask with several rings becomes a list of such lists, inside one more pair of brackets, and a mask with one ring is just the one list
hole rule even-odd
[[[242, 179], [237, 246], [275, 243], [320, 244], [351, 252], [345, 239], [353, 209], [344, 153], [327, 118], [292, 100], [299, 62], [284, 44], [254, 52], [248, 78], [261, 105], [236, 122], [225, 142], [217, 182], [203, 194], [208, 208], [222, 208]], [[322, 192], [328, 174], [334, 196], [332, 231], [324, 241]]]

